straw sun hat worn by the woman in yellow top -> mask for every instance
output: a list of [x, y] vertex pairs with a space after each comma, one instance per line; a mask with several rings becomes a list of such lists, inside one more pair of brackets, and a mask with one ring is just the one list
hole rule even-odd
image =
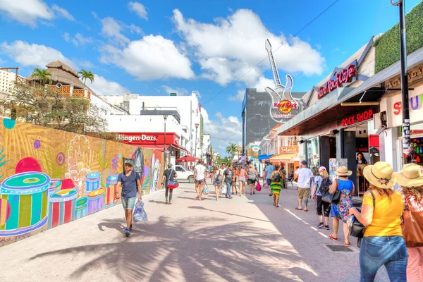
[[393, 168], [385, 161], [378, 161], [373, 166], [366, 166], [363, 169], [364, 178], [377, 188], [391, 189], [396, 183], [396, 175]]

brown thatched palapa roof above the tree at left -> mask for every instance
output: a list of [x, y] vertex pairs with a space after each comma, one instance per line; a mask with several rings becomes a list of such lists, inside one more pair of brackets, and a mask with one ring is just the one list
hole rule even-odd
[[[51, 74], [51, 80], [53, 84], [61, 83], [62, 85], [72, 85], [75, 89], [84, 89], [84, 82], [79, 80], [79, 75], [76, 71], [73, 70], [70, 66], [66, 65], [59, 60], [52, 61], [47, 64], [47, 71]], [[27, 77], [27, 80], [37, 80], [36, 76], [30, 75]], [[90, 90], [90, 87], [87, 87]], [[90, 90], [92, 92], [92, 90]]]

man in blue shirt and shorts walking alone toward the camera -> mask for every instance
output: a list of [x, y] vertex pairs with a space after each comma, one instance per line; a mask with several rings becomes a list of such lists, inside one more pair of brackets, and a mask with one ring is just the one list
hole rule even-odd
[[[116, 187], [116, 199], [122, 198], [122, 206], [125, 210], [126, 228], [125, 236], [129, 237], [132, 230], [133, 209], [135, 202], [142, 200], [140, 175], [133, 171], [133, 160], [125, 160], [125, 171], [118, 176]], [[122, 188], [122, 189], [121, 189]]]

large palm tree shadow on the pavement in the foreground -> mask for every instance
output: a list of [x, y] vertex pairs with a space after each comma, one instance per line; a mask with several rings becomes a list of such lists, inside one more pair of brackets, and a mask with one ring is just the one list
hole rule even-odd
[[[210, 221], [214, 226], [202, 227]], [[225, 224], [224, 219], [209, 216], [174, 221], [161, 216], [134, 227], [139, 233], [128, 240], [44, 252], [30, 260], [95, 254], [73, 269], [70, 278], [82, 278], [87, 271], [105, 266], [123, 281], [176, 281], [180, 276], [185, 281], [301, 281], [281, 264], [294, 261], [306, 268], [293, 248], [276, 243], [279, 233], [266, 232], [251, 222]]]

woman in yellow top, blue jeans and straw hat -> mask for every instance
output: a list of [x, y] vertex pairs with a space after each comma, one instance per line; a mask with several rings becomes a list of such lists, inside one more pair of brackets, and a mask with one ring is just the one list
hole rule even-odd
[[366, 166], [363, 175], [370, 186], [364, 193], [362, 210], [350, 209], [350, 215], [367, 226], [360, 249], [360, 281], [374, 281], [383, 265], [391, 282], [407, 281], [408, 254], [401, 230], [404, 204], [403, 196], [392, 189], [396, 184], [393, 168], [378, 161]]

